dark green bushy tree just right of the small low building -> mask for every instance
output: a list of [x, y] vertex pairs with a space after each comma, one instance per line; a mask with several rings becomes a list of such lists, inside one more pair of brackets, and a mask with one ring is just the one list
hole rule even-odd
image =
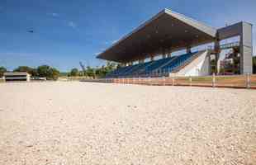
[[57, 80], [59, 78], [59, 70], [51, 68], [48, 65], [41, 65], [37, 68], [37, 73], [40, 78]]

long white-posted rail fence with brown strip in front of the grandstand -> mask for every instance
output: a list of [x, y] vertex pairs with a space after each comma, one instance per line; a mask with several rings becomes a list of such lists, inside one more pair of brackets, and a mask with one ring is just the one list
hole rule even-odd
[[204, 77], [162, 77], [162, 78], [99, 78], [83, 79], [83, 82], [112, 82], [158, 86], [235, 87], [256, 89], [256, 74], [204, 76]]

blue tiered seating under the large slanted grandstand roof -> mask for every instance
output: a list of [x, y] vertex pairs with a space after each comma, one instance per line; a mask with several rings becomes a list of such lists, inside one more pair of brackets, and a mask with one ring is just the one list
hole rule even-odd
[[197, 52], [118, 68], [109, 73], [107, 78], [143, 76], [151, 73], [171, 73], [175, 68], [182, 67], [187, 59], [191, 59], [194, 54], [197, 54]]

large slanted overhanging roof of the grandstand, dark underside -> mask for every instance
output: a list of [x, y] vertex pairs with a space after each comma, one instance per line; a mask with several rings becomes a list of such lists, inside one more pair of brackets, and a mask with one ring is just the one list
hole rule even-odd
[[215, 28], [164, 9], [98, 54], [97, 58], [126, 63], [147, 58], [149, 54], [159, 54], [163, 49], [182, 50], [187, 46], [211, 42], [215, 38]]

